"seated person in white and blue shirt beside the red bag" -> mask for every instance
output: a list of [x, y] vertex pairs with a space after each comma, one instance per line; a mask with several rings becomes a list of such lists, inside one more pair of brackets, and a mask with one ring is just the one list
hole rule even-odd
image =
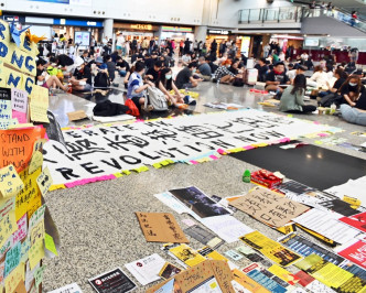
[[[153, 83], [149, 80], [143, 82], [142, 75], [144, 73], [144, 67], [143, 62], [136, 63], [134, 72], [131, 74], [127, 87], [127, 98], [131, 99], [139, 110], [141, 110], [141, 108], [143, 108], [141, 106], [144, 105], [146, 89], [150, 86], [154, 87]], [[153, 110], [151, 105], [143, 109], [146, 111]]]

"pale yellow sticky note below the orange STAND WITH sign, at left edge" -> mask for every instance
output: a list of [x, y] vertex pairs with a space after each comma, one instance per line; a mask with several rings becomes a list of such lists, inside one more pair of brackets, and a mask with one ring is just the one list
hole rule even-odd
[[0, 192], [3, 197], [17, 195], [24, 187], [13, 165], [0, 170]]

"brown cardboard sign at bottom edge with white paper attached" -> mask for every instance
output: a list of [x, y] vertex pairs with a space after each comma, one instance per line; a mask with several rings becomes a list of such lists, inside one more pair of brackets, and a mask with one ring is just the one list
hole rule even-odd
[[233, 275], [230, 268], [226, 261], [222, 260], [206, 260], [182, 271], [165, 282], [148, 289], [147, 293], [158, 291], [171, 280], [174, 280], [174, 290], [176, 292], [193, 292], [193, 290], [197, 290], [197, 292], [212, 292], [215, 290], [223, 293], [235, 292], [232, 285]]

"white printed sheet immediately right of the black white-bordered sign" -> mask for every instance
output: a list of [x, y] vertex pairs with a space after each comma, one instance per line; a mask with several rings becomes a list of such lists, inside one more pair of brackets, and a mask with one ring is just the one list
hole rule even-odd
[[164, 264], [165, 260], [158, 253], [153, 253], [147, 258], [127, 263], [125, 267], [144, 286], [161, 279], [159, 272]]

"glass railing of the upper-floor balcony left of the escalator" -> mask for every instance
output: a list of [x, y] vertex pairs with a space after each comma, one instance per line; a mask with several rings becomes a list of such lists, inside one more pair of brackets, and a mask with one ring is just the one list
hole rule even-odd
[[300, 22], [302, 9], [301, 7], [243, 9], [239, 11], [239, 23]]

